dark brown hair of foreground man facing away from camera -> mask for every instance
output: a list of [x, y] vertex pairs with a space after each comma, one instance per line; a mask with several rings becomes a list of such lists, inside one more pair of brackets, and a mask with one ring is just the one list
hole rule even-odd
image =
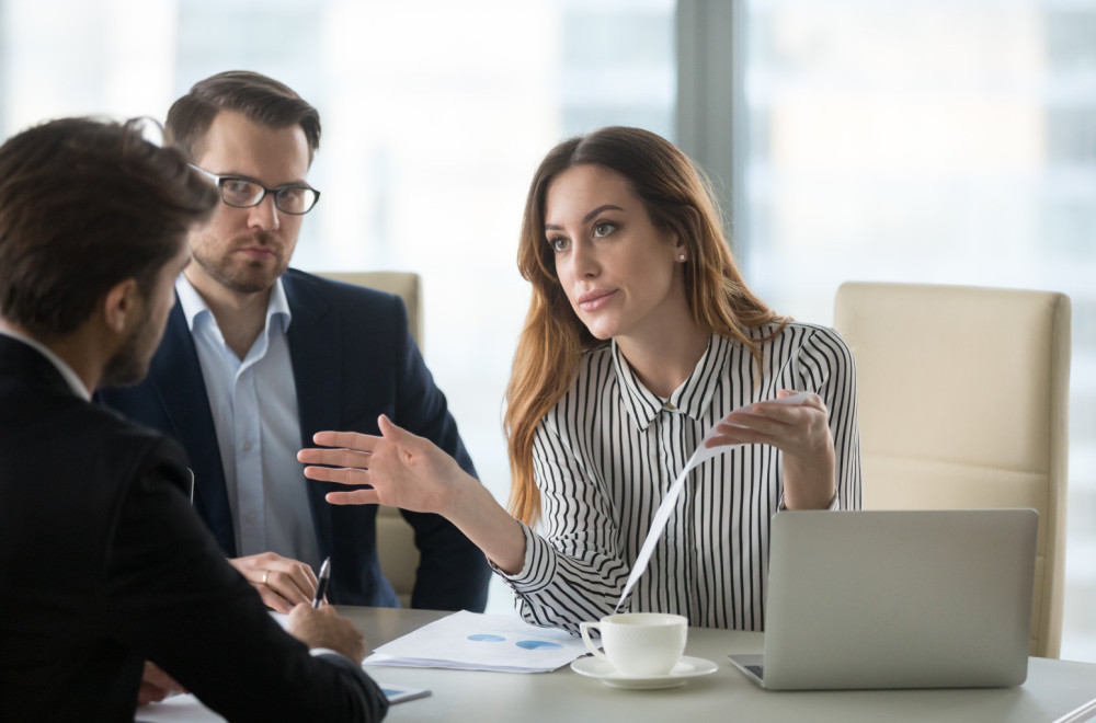
[[116, 284], [147, 294], [217, 191], [149, 122], [62, 118], [0, 147], [0, 315], [44, 338], [75, 331]]

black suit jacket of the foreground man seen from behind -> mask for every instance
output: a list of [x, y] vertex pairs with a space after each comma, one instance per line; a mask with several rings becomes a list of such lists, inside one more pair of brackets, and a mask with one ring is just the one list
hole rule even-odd
[[267, 615], [190, 507], [182, 451], [0, 335], [0, 720], [133, 721], [142, 661], [230, 721], [375, 721], [359, 665]]

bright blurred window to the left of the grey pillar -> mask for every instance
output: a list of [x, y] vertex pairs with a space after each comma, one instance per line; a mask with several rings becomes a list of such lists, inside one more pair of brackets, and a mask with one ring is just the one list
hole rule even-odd
[[[236, 68], [320, 111], [309, 180], [323, 198], [294, 265], [422, 275], [426, 364], [505, 503], [526, 190], [564, 137], [613, 124], [673, 136], [673, 0], [0, 0], [3, 137], [61, 115], [162, 119]], [[492, 585], [490, 608], [510, 610]]]

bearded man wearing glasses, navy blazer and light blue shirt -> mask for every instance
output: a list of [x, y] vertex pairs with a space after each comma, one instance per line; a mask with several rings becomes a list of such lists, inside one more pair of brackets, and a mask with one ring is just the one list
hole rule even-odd
[[[376, 508], [326, 503], [297, 450], [322, 429], [377, 434], [384, 413], [475, 470], [402, 302], [288, 268], [320, 197], [307, 181], [319, 114], [275, 80], [229, 71], [179, 99], [165, 133], [221, 203], [190, 234], [192, 263], [148, 378], [101, 401], [183, 444], [196, 510], [271, 608], [309, 600], [328, 556], [331, 602], [397, 607]], [[412, 606], [482, 610], [482, 553], [438, 516], [404, 516], [422, 555]]]

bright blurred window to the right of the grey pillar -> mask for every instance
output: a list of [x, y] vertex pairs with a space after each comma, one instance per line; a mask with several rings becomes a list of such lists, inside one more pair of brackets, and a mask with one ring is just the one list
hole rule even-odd
[[848, 279], [1072, 298], [1062, 657], [1096, 662], [1096, 2], [737, 10], [737, 248], [773, 306], [831, 323]]

